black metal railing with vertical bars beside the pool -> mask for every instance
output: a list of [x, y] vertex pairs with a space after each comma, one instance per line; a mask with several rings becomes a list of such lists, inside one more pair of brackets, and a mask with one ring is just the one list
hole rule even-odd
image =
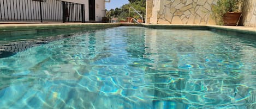
[[0, 0], [0, 22], [85, 22], [85, 5], [59, 0]]

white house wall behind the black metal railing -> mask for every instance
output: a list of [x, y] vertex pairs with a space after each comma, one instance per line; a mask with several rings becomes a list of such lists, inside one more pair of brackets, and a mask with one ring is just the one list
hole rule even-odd
[[[79, 4], [85, 4], [85, 21], [89, 21], [89, 4], [88, 4], [88, 0], [62, 0], [65, 2], [72, 2], [72, 3], [79, 3]], [[5, 4], [3, 6], [3, 3]], [[47, 5], [47, 4], [51, 4], [51, 2], [41, 2], [42, 5]], [[56, 2], [54, 2], [56, 3]], [[7, 19], [11, 19], [14, 18], [15, 19], [21, 19], [21, 18], [25, 18], [25, 19], [35, 19], [35, 20], [40, 20], [40, 11], [39, 11], [39, 3], [35, 2], [35, 1], [0, 1], [0, 4], [2, 5], [2, 7], [0, 7], [0, 9], [2, 10], [2, 13], [0, 14], [1, 18], [4, 16], [6, 17], [8, 14], [8, 17], [6, 17]], [[62, 21], [63, 20], [63, 12], [62, 12], [62, 4], [61, 2], [57, 2], [58, 5], [52, 5], [52, 7], [43, 7], [42, 8], [42, 13], [43, 13], [43, 20], [46, 20], [48, 16], [54, 16], [54, 20], [56, 21]], [[15, 7], [13, 7], [13, 5]], [[17, 5], [17, 7], [16, 7]], [[23, 6], [23, 7], [22, 7]], [[54, 7], [55, 6], [55, 7]], [[4, 9], [5, 7], [5, 9]], [[9, 9], [7, 10], [7, 7], [9, 7]], [[32, 7], [32, 8], [25, 8], [26, 7]], [[51, 11], [51, 13], [47, 13], [49, 12], [49, 10], [53, 10], [53, 9], [57, 9], [59, 8], [58, 11]], [[95, 0], [95, 11], [96, 11], [96, 21], [100, 22], [102, 21], [102, 17], [105, 16], [105, 0]], [[23, 10], [17, 10], [17, 9], [22, 9]], [[10, 10], [11, 9], [11, 10]], [[25, 14], [26, 13], [26, 14]], [[4, 15], [5, 14], [5, 15]]]

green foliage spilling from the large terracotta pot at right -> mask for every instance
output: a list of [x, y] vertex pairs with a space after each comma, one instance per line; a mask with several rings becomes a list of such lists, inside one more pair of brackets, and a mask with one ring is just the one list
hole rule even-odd
[[212, 7], [212, 17], [217, 24], [223, 25], [223, 15], [227, 12], [239, 12], [243, 0], [219, 0], [217, 5]]

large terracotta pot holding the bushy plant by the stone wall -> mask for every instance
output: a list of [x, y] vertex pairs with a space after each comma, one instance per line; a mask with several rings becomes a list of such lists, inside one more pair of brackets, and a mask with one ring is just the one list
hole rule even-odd
[[224, 25], [236, 25], [241, 16], [241, 12], [228, 12], [223, 15]]

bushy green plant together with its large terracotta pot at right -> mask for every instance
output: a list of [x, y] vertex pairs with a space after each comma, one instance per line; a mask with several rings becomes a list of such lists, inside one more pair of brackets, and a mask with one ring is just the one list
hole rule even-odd
[[219, 25], [237, 25], [242, 12], [242, 0], [219, 0], [212, 13]]

